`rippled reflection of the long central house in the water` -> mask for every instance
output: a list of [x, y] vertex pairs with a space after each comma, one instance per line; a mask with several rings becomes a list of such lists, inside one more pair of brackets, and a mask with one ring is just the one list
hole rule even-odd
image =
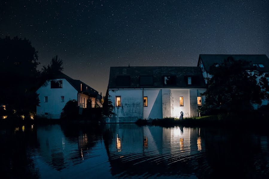
[[204, 146], [198, 128], [135, 124], [106, 127], [114, 136], [104, 139], [113, 176], [193, 175], [189, 168], [195, 170], [206, 162], [200, 160]]

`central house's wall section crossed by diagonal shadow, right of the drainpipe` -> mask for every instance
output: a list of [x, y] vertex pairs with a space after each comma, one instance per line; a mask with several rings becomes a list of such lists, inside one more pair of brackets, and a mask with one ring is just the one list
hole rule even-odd
[[162, 90], [144, 89], [144, 96], [148, 97], [148, 107], [144, 107], [143, 119], [162, 118]]

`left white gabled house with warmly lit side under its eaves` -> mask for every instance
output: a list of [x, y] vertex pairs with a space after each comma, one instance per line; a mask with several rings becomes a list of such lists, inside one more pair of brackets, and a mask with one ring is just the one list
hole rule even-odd
[[100, 104], [98, 91], [62, 72], [46, 81], [37, 90], [37, 94], [39, 94], [40, 100], [40, 106], [37, 106], [37, 115], [46, 118], [60, 118], [62, 109], [69, 100], [77, 100], [77, 105], [81, 108], [86, 108], [87, 105], [95, 107], [96, 103]]

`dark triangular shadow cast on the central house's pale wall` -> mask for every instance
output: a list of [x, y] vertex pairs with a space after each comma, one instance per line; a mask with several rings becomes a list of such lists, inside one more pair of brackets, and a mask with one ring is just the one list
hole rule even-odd
[[148, 115], [148, 119], [161, 119], [162, 118], [162, 90], [159, 90], [159, 93], [154, 101], [154, 104], [151, 108], [151, 112]]

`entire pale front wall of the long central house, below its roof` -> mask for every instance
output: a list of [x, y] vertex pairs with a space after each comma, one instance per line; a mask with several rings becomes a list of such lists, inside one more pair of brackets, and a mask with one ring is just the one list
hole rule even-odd
[[[197, 96], [202, 89], [117, 89], [109, 90], [110, 100], [115, 106], [114, 115], [107, 119], [109, 123], [136, 122], [141, 119], [160, 119], [178, 117], [183, 111], [184, 117], [198, 116]], [[116, 96], [121, 96], [121, 107], [116, 107]], [[143, 107], [143, 96], [148, 97], [148, 107]], [[183, 96], [184, 106], [180, 106], [179, 98]], [[202, 96], [202, 104], [205, 97]]]

